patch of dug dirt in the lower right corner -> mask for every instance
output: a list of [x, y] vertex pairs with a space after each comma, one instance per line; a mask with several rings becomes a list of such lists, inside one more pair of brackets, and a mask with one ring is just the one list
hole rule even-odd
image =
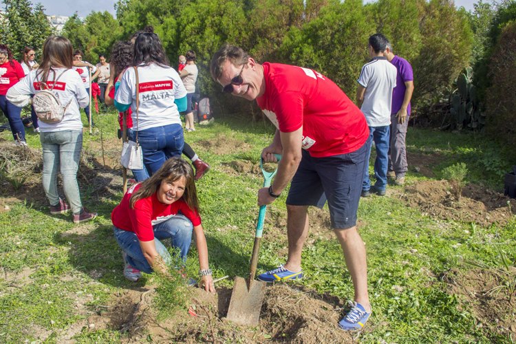
[[[477, 326], [486, 325], [486, 335], [496, 341], [491, 334], [493, 330], [507, 338], [516, 333], [516, 294], [513, 294], [511, 303], [508, 288], [496, 292], [515, 275], [516, 268], [510, 271], [474, 268], [468, 271], [451, 270], [441, 279], [449, 283], [449, 293], [458, 294], [466, 300], [477, 319]], [[496, 325], [491, 325], [493, 323]]]

